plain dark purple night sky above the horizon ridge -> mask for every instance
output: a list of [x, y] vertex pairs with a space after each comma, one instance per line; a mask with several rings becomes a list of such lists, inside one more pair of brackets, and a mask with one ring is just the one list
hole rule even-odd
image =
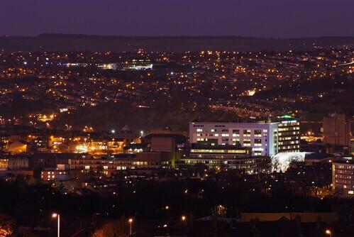
[[354, 36], [354, 0], [0, 0], [0, 35]]

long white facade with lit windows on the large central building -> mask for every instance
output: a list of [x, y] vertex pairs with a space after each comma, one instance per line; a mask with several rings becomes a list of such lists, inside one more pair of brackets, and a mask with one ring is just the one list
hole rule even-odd
[[278, 123], [189, 123], [189, 143], [236, 145], [252, 148], [252, 155], [278, 152]]

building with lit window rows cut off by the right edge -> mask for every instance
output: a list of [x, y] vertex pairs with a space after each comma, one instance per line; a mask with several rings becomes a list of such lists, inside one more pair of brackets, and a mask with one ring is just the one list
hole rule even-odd
[[332, 185], [339, 197], [354, 198], [354, 162], [352, 160], [333, 162]]

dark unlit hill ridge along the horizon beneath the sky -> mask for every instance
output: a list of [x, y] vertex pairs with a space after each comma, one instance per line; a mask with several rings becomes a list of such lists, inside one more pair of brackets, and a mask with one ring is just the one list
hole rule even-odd
[[0, 36], [0, 50], [6, 51], [258, 51], [258, 50], [311, 50], [314, 45], [354, 44], [354, 37], [321, 38], [245, 38], [239, 36], [105, 36], [42, 34], [37, 36]]

